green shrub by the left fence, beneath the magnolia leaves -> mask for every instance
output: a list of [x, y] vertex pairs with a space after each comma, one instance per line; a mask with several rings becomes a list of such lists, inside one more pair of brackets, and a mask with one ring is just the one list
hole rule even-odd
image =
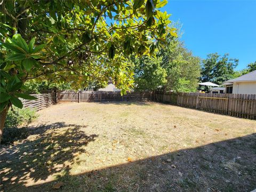
[[37, 118], [36, 111], [29, 108], [19, 109], [13, 107], [9, 110], [5, 119], [4, 132], [2, 143], [11, 143], [17, 139], [25, 139], [29, 135], [27, 126], [35, 118]]

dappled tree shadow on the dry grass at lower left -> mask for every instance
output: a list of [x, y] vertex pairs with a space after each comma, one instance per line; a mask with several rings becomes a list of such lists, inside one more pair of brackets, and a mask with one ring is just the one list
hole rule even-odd
[[[1, 146], [1, 188], [13, 191], [13, 187], [29, 182], [47, 180], [49, 175], [62, 169], [68, 171], [84, 147], [98, 135], [86, 135], [79, 126], [63, 122], [29, 127], [30, 136], [13, 146]], [[58, 130], [58, 131], [57, 131]], [[5, 188], [5, 183], [9, 184]], [[11, 184], [11, 185], [10, 185]]]

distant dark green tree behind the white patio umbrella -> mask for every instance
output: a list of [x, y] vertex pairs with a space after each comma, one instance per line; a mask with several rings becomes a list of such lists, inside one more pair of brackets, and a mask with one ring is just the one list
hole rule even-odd
[[228, 58], [229, 54], [223, 56], [211, 53], [201, 63], [201, 82], [212, 82], [221, 85], [228, 79], [233, 78], [238, 59]]

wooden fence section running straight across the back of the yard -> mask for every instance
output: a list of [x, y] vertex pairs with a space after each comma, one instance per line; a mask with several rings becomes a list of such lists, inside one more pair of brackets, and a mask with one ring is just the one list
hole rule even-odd
[[75, 101], [75, 102], [101, 102], [101, 101], [145, 101], [151, 99], [151, 93], [131, 92], [121, 95], [120, 92], [106, 91], [59, 91], [57, 93], [58, 102]]

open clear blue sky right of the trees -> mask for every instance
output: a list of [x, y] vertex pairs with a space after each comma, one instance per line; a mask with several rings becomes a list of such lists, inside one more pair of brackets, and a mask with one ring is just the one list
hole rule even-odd
[[161, 9], [182, 23], [181, 40], [201, 58], [229, 53], [237, 70], [256, 61], [256, 1], [173, 1]]

